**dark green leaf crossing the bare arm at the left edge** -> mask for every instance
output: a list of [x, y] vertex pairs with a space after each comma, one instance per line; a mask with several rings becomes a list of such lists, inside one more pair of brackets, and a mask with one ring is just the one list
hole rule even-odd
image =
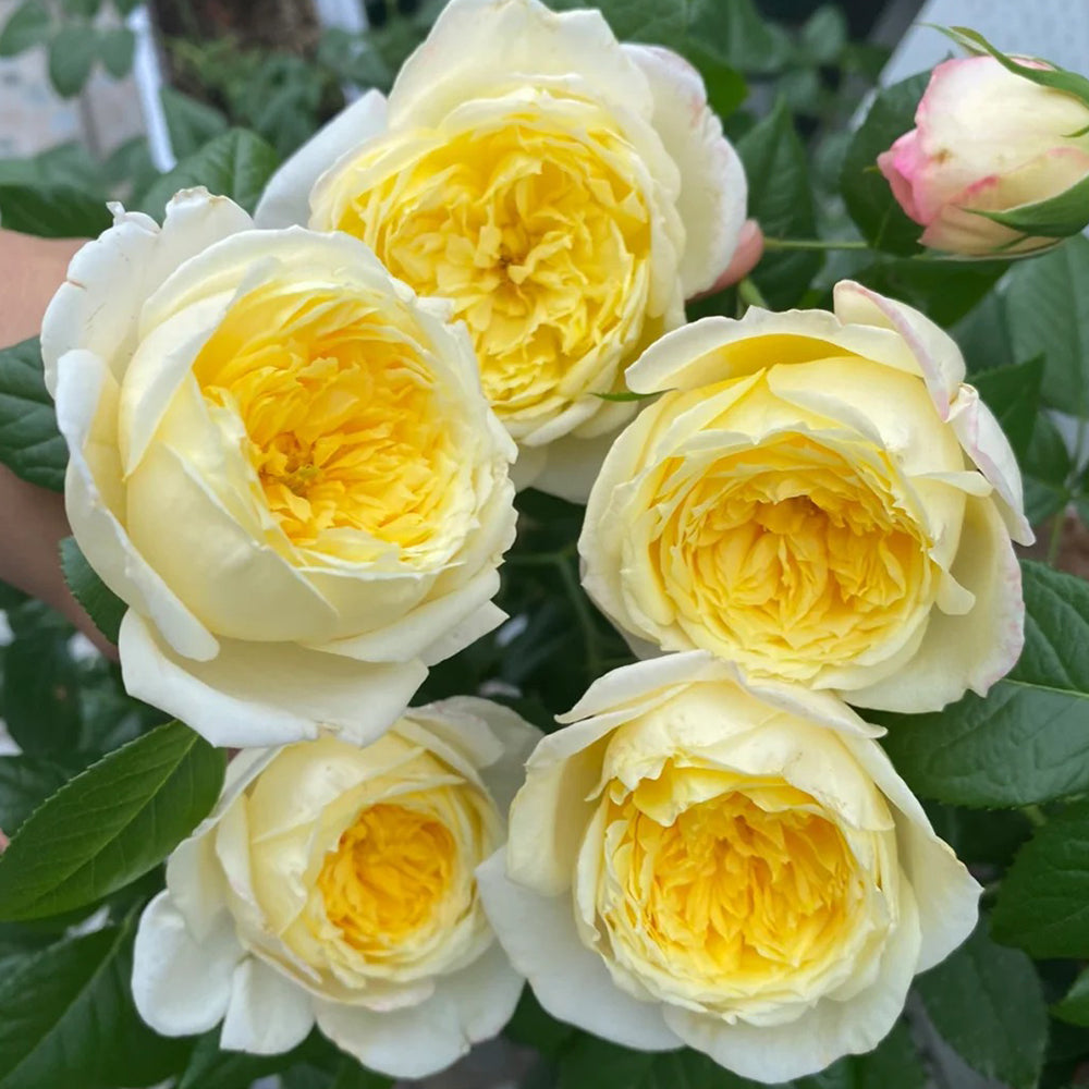
[[37, 337], [0, 348], [0, 462], [30, 484], [64, 490], [68, 446], [57, 430]]

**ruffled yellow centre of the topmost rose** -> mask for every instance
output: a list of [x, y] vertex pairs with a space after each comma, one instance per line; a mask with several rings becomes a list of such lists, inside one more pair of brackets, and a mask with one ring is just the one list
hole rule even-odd
[[519, 419], [611, 389], [619, 348], [641, 331], [650, 216], [634, 151], [589, 122], [527, 105], [468, 131], [390, 137], [343, 183], [364, 187], [323, 212], [328, 223], [311, 220], [363, 238], [421, 295], [453, 301], [516, 437]]

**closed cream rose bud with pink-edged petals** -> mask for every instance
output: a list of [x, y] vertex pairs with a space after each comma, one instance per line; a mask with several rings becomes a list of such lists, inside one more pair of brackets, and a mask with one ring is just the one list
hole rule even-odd
[[926, 229], [925, 246], [1012, 256], [1055, 245], [1089, 222], [1089, 105], [1077, 94], [994, 57], [950, 60], [930, 76], [915, 124], [878, 167]]

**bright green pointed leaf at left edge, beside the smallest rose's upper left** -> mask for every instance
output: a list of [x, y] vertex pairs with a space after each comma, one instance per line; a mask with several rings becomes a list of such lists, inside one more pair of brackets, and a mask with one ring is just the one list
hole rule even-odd
[[147, 873], [207, 816], [223, 768], [222, 752], [179, 722], [88, 768], [0, 857], [0, 919], [58, 915]]

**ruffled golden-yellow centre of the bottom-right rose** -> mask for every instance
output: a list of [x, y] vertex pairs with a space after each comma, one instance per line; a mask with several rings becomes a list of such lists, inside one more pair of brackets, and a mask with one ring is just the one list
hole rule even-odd
[[713, 995], [751, 993], [834, 957], [861, 884], [813, 798], [764, 781], [663, 823], [659, 793], [651, 781], [609, 803], [620, 895], [602, 914], [614, 943]]

